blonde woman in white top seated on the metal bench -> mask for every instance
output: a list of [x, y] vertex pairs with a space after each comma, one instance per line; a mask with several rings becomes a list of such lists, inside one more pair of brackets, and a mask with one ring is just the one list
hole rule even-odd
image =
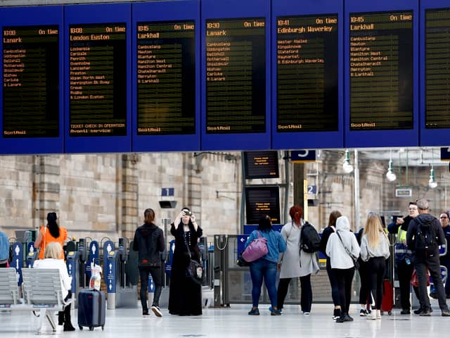
[[[33, 268], [35, 269], [58, 269], [61, 278], [61, 291], [63, 297], [67, 301], [72, 292], [72, 277], [68, 274], [68, 268], [65, 266], [64, 260], [60, 259], [63, 248], [58, 242], [50, 242], [45, 247], [44, 259], [34, 262]], [[65, 306], [64, 311], [58, 313], [58, 325], [64, 325], [64, 331], [75, 331], [75, 327], [72, 326], [70, 320], [70, 304]]]

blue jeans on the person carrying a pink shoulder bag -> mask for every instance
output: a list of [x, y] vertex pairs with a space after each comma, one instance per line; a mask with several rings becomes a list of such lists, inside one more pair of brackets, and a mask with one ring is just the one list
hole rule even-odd
[[276, 307], [276, 263], [259, 258], [257, 261], [250, 263], [250, 276], [252, 277], [253, 307], [258, 307], [263, 277], [272, 308]]

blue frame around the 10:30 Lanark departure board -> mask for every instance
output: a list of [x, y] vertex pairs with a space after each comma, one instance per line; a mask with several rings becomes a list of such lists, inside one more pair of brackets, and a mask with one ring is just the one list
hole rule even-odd
[[[270, 0], [203, 0], [201, 2], [201, 146], [202, 150], [262, 150], [271, 148]], [[260, 133], [207, 134], [206, 132], [206, 21], [211, 19], [265, 18], [266, 28], [266, 131]]]

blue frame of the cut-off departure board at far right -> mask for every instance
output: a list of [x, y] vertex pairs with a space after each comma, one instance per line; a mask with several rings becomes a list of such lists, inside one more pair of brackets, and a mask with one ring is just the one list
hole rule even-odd
[[450, 8], [449, 1], [428, 0], [420, 1], [420, 146], [446, 146], [449, 145], [449, 132], [445, 129], [427, 129], [426, 123], [426, 75], [425, 75], [425, 37], [426, 21], [425, 11], [432, 8]]

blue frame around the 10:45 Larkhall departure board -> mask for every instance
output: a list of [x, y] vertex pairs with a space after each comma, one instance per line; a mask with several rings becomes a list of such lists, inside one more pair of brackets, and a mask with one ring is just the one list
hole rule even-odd
[[[349, 29], [350, 13], [413, 11], [413, 129], [411, 130], [350, 130]], [[419, 4], [418, 0], [345, 0], [344, 79], [345, 79], [345, 139], [346, 148], [418, 146], [419, 145]]]

